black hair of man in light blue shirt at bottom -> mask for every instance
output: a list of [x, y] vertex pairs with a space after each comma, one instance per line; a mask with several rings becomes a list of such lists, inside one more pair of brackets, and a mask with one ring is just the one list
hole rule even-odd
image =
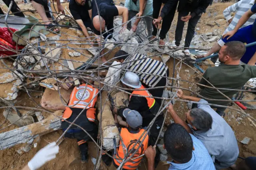
[[193, 141], [182, 125], [172, 123], [164, 133], [164, 146], [170, 156], [180, 163], [192, 158]]

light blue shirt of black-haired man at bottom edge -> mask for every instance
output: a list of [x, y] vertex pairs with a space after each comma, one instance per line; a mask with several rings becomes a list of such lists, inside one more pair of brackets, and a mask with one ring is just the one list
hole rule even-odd
[[204, 144], [194, 135], [190, 134], [190, 136], [194, 146], [191, 160], [184, 164], [168, 162], [171, 164], [169, 170], [215, 170], [212, 158]]

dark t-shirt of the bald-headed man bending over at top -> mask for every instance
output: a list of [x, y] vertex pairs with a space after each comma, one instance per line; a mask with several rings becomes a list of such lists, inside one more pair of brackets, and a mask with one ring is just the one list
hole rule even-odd
[[[100, 16], [105, 20], [107, 29], [113, 28], [114, 16], [118, 16], [118, 9], [116, 8], [113, 0], [92, 0], [92, 20], [94, 16], [98, 15], [97, 6]], [[100, 32], [94, 28], [94, 33], [100, 35]]]

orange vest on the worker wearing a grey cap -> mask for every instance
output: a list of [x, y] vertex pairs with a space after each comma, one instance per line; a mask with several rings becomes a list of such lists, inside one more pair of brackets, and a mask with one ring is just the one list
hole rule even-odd
[[[133, 152], [131, 152], [132, 151], [131, 149], [134, 147], [134, 144], [136, 144], [136, 142], [138, 141], [138, 139], [140, 138], [140, 136], [142, 135], [142, 133], [144, 131], [145, 131], [144, 129], [140, 129], [140, 131], [138, 133], [130, 133], [127, 128], [122, 128], [122, 130], [120, 132], [120, 136], [123, 139], [124, 146], [126, 147], [127, 152], [130, 152], [130, 155], [133, 154]], [[145, 150], [148, 148], [148, 134], [147, 134], [145, 140], [143, 142], [141, 142], [141, 140], [144, 138], [145, 135], [146, 135], [146, 132], [144, 133], [144, 135], [140, 138], [139, 142], [134, 147], [134, 151], [135, 151], [138, 148], [138, 146], [140, 145], [140, 143], [142, 143], [142, 145], [140, 146], [140, 148], [138, 149], [136, 154], [134, 154], [134, 156], [132, 156], [132, 158], [136, 158], [136, 157], [144, 154]], [[116, 150], [116, 155], [114, 155], [114, 158], [116, 158], [116, 159], [114, 159], [114, 162], [117, 166], [120, 166], [122, 160], [124, 159], [125, 154], [127, 154], [127, 153], [124, 153], [122, 142], [120, 140], [119, 147]], [[130, 155], [128, 155], [128, 157]], [[134, 159], [134, 160], [129, 160], [128, 162], [126, 162], [126, 164], [124, 164], [123, 168], [127, 169], [127, 170], [136, 170], [136, 168], [138, 168], [141, 160], [142, 160], [142, 157]]]

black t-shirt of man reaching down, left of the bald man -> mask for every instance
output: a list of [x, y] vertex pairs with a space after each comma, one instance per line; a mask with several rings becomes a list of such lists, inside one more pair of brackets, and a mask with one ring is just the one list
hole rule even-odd
[[70, 0], [69, 10], [75, 20], [90, 21], [88, 10], [92, 9], [91, 1], [86, 0], [82, 6], [77, 4], [75, 0]]

